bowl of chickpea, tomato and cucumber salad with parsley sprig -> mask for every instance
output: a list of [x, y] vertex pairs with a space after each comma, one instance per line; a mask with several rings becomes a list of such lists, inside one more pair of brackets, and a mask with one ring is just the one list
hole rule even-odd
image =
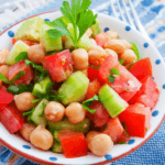
[[165, 66], [130, 25], [64, 1], [0, 34], [0, 141], [44, 164], [105, 164], [164, 116]]

